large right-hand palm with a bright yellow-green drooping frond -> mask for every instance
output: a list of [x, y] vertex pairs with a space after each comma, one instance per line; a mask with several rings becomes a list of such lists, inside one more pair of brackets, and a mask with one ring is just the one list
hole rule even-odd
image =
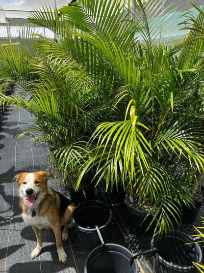
[[153, 12], [158, 15], [160, 3], [135, 1], [132, 13], [118, 1], [109, 3], [111, 8], [105, 2], [102, 9], [100, 2], [81, 0], [60, 12], [76, 27], [74, 39], [87, 45], [79, 49], [80, 56], [91, 49], [83, 65], [92, 67], [91, 76], [101, 87], [108, 79], [117, 98], [113, 121], [101, 123], [93, 134], [81, 177], [96, 166], [98, 182], [106, 177], [106, 187], [120, 179], [128, 196], [151, 203], [155, 229], [162, 233], [173, 227], [172, 218], [179, 224], [178, 204], [192, 203], [195, 173], [204, 170], [204, 74], [203, 59], [195, 64], [203, 43], [188, 57], [187, 69], [182, 60], [189, 56], [188, 39], [175, 46], [156, 44], [161, 22], [155, 24]]

